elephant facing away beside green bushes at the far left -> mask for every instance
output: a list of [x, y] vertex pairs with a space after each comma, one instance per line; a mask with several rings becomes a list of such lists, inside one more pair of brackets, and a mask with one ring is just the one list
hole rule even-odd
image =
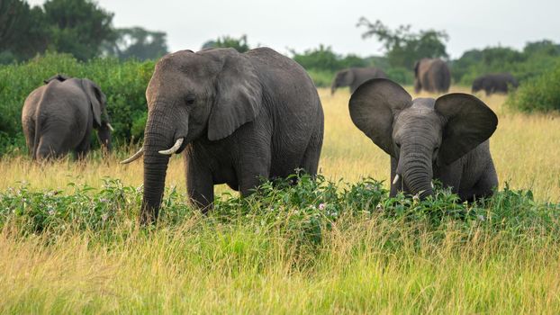
[[32, 91], [22, 111], [23, 133], [33, 159], [62, 157], [73, 151], [85, 157], [90, 135], [111, 149], [106, 97], [86, 78], [56, 75]]

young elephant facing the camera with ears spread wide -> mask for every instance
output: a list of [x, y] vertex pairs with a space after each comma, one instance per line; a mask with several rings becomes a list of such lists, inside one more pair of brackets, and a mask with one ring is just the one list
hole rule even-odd
[[498, 177], [488, 139], [498, 118], [470, 94], [412, 100], [400, 85], [375, 79], [352, 94], [357, 128], [391, 156], [391, 195], [433, 193], [431, 181], [452, 187], [463, 201], [492, 195]]

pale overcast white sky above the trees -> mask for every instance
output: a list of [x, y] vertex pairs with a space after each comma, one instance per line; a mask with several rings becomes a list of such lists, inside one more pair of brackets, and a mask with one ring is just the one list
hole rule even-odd
[[[28, 0], [42, 4], [44, 0]], [[391, 28], [446, 30], [447, 53], [458, 58], [467, 49], [509, 46], [527, 41], [560, 42], [560, 0], [97, 0], [114, 13], [115, 27], [141, 26], [166, 31], [171, 51], [200, 49], [221, 35], [247, 34], [250, 46], [287, 54], [331, 46], [338, 53], [380, 55], [375, 39], [362, 40], [360, 16]]]

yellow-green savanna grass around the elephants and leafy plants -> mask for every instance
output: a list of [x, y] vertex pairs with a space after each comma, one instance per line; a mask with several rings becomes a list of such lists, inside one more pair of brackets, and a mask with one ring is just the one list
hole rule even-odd
[[[468, 93], [462, 87], [451, 92]], [[348, 90], [320, 94], [321, 174], [350, 183], [372, 176], [388, 188], [389, 158], [350, 121]], [[481, 97], [500, 119], [491, 139], [500, 190], [504, 182], [511, 190], [531, 190], [529, 203], [560, 211], [560, 117], [509, 112], [505, 96]], [[72, 195], [76, 187], [83, 187], [80, 193], [88, 187], [101, 192], [104, 177], [139, 187], [142, 164], [119, 165], [126, 154], [48, 166], [5, 157], [0, 192], [22, 186], [60, 195]], [[172, 158], [167, 172], [172, 186], [185, 192], [181, 157]], [[72, 229], [62, 221], [57, 229], [30, 232], [6, 220], [0, 234], [0, 311], [560, 312], [560, 241], [545, 229], [509, 223], [508, 229], [495, 228], [500, 222], [489, 229], [484, 216], [480, 224], [441, 220], [433, 227], [423, 220], [341, 214], [322, 230], [320, 242], [302, 245], [294, 241], [298, 232], [280, 222], [291, 222], [297, 209], [270, 217], [262, 214], [269, 209], [255, 206], [230, 220], [189, 211], [182, 220], [163, 220], [147, 230], [134, 220], [139, 194], [134, 195], [118, 204], [127, 219], [101, 229]], [[512, 212], [508, 220], [517, 215], [523, 213]]]

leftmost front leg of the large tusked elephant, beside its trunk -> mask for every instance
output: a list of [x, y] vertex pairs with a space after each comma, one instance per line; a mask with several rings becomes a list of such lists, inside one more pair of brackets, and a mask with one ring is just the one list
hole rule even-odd
[[200, 163], [200, 158], [191, 152], [185, 152], [186, 193], [190, 201], [203, 213], [212, 208], [214, 201], [214, 184], [212, 171]]

